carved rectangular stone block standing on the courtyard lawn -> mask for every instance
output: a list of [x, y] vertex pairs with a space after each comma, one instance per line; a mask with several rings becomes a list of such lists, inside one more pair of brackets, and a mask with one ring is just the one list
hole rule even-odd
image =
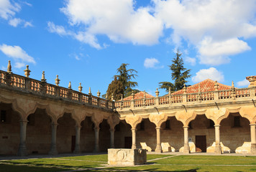
[[134, 166], [147, 163], [145, 149], [108, 149], [108, 163], [114, 166]]

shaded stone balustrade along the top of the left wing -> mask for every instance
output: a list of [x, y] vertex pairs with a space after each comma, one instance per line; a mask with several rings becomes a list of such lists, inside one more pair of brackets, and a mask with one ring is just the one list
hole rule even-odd
[[84, 94], [70, 88], [52, 85], [45, 80], [34, 80], [29, 77], [16, 75], [12, 72], [4, 72], [0, 70], [0, 87], [6, 87], [20, 92], [29, 92], [35, 95], [45, 97], [60, 98], [72, 102], [91, 105], [94, 108], [104, 108], [106, 110], [114, 110], [114, 101], [109, 101], [100, 97]]

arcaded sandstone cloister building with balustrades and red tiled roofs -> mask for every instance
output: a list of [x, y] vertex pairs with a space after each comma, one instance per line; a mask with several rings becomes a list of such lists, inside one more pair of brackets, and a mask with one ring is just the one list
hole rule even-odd
[[141, 148], [162, 152], [256, 154], [256, 77], [237, 89], [204, 80], [155, 97], [139, 92], [114, 102], [0, 70], [0, 155]]

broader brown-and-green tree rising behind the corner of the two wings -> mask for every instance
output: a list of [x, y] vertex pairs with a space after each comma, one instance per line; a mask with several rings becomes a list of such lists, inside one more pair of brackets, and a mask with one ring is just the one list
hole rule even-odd
[[129, 64], [123, 63], [116, 71], [118, 75], [114, 75], [114, 80], [109, 84], [107, 94], [108, 99], [111, 99], [111, 95], [114, 95], [114, 100], [120, 100], [121, 96], [128, 97], [132, 95], [132, 91], [134, 93], [140, 92], [139, 90], [133, 90], [132, 87], [136, 87], [138, 85], [137, 82], [133, 82], [132, 79], [137, 77], [136, 70], [127, 69]]

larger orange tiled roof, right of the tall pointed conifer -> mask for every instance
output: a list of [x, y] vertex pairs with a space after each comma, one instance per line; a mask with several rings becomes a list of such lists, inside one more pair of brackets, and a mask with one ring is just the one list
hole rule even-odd
[[[214, 91], [214, 85], [215, 85], [215, 81], [207, 79], [204, 80], [202, 82], [198, 82], [195, 85], [191, 85], [189, 87], [187, 87], [186, 93], [196, 93], [199, 92], [198, 88], [200, 85], [200, 90], [201, 92], [209, 92], [209, 91]], [[229, 90], [232, 87], [229, 85], [223, 85], [219, 82], [217, 82], [217, 84], [219, 85], [218, 90]], [[172, 95], [180, 95], [183, 94], [183, 90], [178, 90], [176, 92], [173, 92]]]

